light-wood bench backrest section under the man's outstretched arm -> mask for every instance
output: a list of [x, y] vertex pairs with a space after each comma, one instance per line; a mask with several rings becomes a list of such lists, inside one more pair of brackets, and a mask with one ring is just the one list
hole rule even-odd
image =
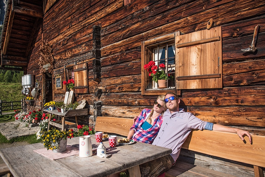
[[221, 158], [265, 167], [265, 136], [247, 136], [243, 142], [236, 133], [193, 130], [182, 148]]

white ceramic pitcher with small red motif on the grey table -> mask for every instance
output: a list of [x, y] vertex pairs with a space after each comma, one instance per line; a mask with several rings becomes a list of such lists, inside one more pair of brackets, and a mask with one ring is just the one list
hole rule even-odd
[[89, 135], [79, 137], [79, 157], [92, 156], [91, 137]]

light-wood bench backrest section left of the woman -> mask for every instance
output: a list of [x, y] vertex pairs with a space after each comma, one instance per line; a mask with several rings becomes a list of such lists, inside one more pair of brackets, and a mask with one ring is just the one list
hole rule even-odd
[[127, 136], [132, 127], [133, 120], [119, 117], [97, 117], [95, 131], [115, 133]]

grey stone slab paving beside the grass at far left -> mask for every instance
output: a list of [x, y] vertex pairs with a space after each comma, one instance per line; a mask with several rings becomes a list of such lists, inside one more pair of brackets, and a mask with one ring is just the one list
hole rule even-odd
[[27, 124], [16, 120], [15, 122], [0, 123], [0, 132], [6, 137], [7, 140], [10, 140], [14, 137], [34, 135], [37, 133], [39, 127], [37, 124]]

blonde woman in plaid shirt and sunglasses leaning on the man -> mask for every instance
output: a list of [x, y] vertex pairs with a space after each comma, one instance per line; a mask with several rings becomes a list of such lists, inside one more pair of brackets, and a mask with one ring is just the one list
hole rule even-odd
[[164, 99], [165, 96], [160, 95], [154, 101], [153, 109], [143, 109], [130, 128], [127, 139], [148, 144], [153, 142], [163, 122], [163, 113], [167, 109]]

